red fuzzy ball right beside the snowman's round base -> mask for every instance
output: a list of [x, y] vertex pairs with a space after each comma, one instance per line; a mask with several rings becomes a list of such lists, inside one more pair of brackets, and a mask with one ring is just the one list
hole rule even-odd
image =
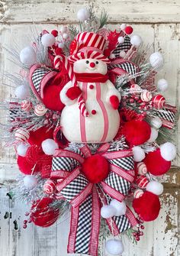
[[124, 124], [122, 134], [131, 146], [137, 146], [149, 140], [151, 128], [146, 121], [131, 120]]

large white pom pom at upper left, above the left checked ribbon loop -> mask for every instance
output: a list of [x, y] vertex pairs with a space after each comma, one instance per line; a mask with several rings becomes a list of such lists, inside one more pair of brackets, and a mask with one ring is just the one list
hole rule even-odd
[[31, 66], [37, 62], [37, 55], [35, 53], [35, 50], [33, 49], [33, 47], [30, 47], [30, 46], [22, 49], [19, 54], [19, 57], [20, 57], [21, 63], [27, 66]]

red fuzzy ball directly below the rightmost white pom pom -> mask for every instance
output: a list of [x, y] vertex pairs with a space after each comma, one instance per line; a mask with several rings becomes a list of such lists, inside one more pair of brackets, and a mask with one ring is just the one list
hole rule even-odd
[[171, 161], [167, 161], [161, 156], [160, 149], [149, 152], [143, 160], [149, 173], [159, 176], [166, 173], [171, 167]]

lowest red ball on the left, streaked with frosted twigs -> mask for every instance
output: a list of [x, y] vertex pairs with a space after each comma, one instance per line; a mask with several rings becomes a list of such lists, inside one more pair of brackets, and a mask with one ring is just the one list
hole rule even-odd
[[40, 227], [49, 227], [59, 217], [59, 209], [54, 209], [50, 204], [53, 203], [53, 199], [44, 197], [37, 200], [31, 207], [31, 219], [35, 225]]

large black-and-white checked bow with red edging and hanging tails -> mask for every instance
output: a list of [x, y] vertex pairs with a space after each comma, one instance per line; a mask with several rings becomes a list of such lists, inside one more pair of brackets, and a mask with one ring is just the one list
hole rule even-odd
[[[98, 184], [88, 181], [81, 172], [85, 158], [92, 153], [87, 145], [76, 152], [59, 149], [53, 157], [51, 178], [57, 180], [57, 195], [63, 196], [72, 205], [69, 232], [69, 253], [98, 255], [98, 233], [100, 226], [99, 188], [103, 196], [122, 201], [127, 196], [133, 182], [133, 154], [130, 150], [116, 151], [109, 144], [103, 144], [96, 154], [101, 154], [109, 162], [108, 177]], [[103, 196], [101, 198], [103, 198]], [[104, 199], [105, 200], [105, 199]], [[107, 201], [104, 201], [107, 204]], [[127, 209], [126, 215], [107, 220], [114, 235], [137, 225], [133, 213]]]

